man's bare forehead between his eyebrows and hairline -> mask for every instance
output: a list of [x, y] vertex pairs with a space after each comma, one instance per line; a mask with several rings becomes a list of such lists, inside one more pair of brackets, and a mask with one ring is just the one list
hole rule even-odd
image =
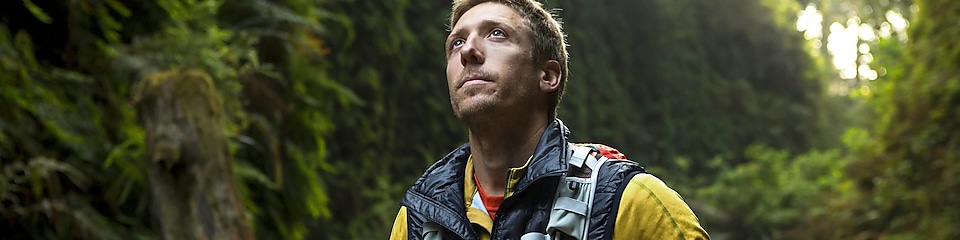
[[522, 18], [513, 8], [507, 5], [485, 2], [477, 4], [463, 13], [457, 23], [454, 24], [453, 30], [491, 23], [520, 27]]

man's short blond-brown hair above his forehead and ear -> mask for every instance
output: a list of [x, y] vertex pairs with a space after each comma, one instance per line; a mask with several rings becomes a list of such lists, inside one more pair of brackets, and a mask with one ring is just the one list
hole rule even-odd
[[533, 39], [534, 63], [543, 63], [548, 60], [560, 62], [560, 84], [557, 91], [552, 96], [554, 101], [550, 102], [552, 107], [551, 117], [556, 116], [557, 105], [560, 104], [560, 98], [563, 97], [563, 89], [567, 85], [567, 77], [570, 70], [567, 69], [567, 39], [563, 34], [561, 22], [557, 20], [555, 11], [543, 8], [543, 4], [536, 0], [454, 0], [453, 9], [450, 11], [450, 29], [453, 29], [460, 17], [468, 10], [481, 3], [493, 2], [506, 5], [523, 19], [524, 27], [530, 33]]

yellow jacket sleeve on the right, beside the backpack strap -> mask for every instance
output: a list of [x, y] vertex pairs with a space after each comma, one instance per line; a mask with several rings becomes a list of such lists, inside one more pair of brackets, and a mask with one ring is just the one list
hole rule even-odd
[[620, 199], [613, 239], [710, 239], [676, 191], [650, 174], [637, 174]]

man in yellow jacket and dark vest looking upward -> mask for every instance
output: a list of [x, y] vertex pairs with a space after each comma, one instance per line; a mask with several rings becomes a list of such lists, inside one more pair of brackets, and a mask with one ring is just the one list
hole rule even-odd
[[450, 103], [469, 143], [407, 192], [391, 239], [709, 239], [636, 163], [568, 144], [565, 37], [542, 4], [454, 0], [450, 20]]

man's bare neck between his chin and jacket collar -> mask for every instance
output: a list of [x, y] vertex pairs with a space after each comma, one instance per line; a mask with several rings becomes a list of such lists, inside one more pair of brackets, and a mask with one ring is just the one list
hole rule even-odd
[[[538, 119], [538, 120], [529, 120]], [[478, 184], [492, 196], [503, 196], [507, 170], [523, 166], [540, 142], [550, 120], [531, 117], [507, 124], [470, 126], [470, 152]]]

